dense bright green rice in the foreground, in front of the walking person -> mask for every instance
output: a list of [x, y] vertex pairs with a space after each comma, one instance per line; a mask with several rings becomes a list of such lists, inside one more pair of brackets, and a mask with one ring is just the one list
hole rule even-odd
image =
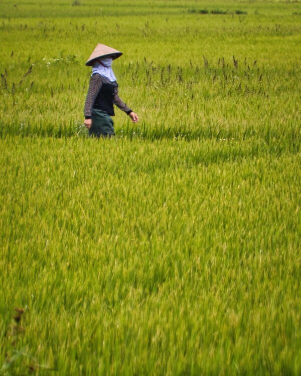
[[0, 309], [7, 326], [28, 307], [19, 344], [39, 364], [298, 374], [299, 153], [231, 139], [1, 143]]

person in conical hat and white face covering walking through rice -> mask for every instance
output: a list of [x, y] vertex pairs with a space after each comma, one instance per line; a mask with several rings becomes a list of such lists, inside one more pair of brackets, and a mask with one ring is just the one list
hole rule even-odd
[[112, 61], [121, 55], [120, 51], [98, 44], [86, 62], [87, 66], [92, 66], [84, 108], [85, 126], [89, 129], [90, 136], [115, 135], [111, 118], [115, 115], [114, 104], [125, 112], [133, 123], [139, 121], [138, 116], [118, 96], [118, 84], [112, 70]]

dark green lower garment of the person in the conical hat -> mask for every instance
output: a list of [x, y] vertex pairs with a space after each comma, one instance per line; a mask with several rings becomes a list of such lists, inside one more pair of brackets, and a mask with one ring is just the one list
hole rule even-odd
[[94, 137], [112, 137], [115, 135], [114, 123], [105, 111], [93, 108], [91, 112], [92, 126], [89, 135]]

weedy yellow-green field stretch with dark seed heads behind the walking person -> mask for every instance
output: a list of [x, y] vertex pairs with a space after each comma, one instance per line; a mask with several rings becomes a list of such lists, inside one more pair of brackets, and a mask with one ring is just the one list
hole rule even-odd
[[[143, 120], [140, 129], [133, 130], [141, 133], [142, 128], [142, 137], [184, 134], [196, 139], [216, 128], [213, 137], [220, 133], [221, 138], [266, 138], [272, 132], [291, 143], [292, 128], [300, 122], [300, 27], [292, 16], [298, 5], [251, 4], [244, 18], [199, 18], [186, 12], [188, 5], [172, 5], [166, 8], [176, 12], [170, 18], [160, 14], [165, 7], [161, 2], [155, 10], [137, 2], [130, 17], [117, 17], [126, 2], [119, 7], [106, 2], [99, 7], [114, 10], [116, 16], [4, 18], [0, 136], [82, 133], [90, 74], [84, 62], [98, 41], [124, 52], [114, 70], [121, 98]], [[72, 12], [97, 8], [94, 3], [62, 6]], [[153, 10], [153, 16], [142, 17], [142, 6]], [[35, 7], [40, 9], [38, 3]], [[237, 2], [229, 3], [229, 9], [237, 10]], [[95, 40], [95, 30], [101, 40]], [[37, 43], [37, 48], [27, 50]], [[118, 110], [115, 127], [123, 135], [132, 133]]]

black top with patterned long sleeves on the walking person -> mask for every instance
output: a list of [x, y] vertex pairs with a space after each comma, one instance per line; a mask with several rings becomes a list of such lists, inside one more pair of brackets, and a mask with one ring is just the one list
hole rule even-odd
[[85, 102], [85, 119], [91, 119], [92, 108], [99, 108], [107, 112], [110, 116], [114, 116], [113, 104], [120, 108], [120, 110], [124, 111], [127, 115], [132, 112], [132, 110], [119, 98], [117, 82], [111, 82], [99, 73], [94, 73], [90, 79]]

